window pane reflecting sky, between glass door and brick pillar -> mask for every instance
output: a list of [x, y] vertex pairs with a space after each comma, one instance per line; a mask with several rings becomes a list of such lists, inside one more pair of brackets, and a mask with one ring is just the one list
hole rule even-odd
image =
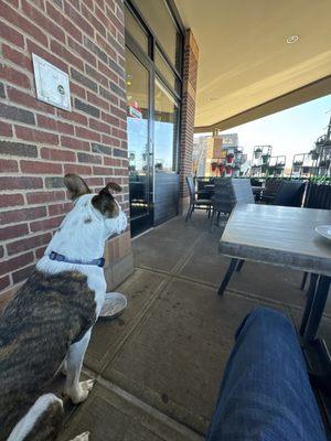
[[177, 171], [179, 107], [175, 99], [158, 79], [156, 80], [154, 114], [156, 171]]

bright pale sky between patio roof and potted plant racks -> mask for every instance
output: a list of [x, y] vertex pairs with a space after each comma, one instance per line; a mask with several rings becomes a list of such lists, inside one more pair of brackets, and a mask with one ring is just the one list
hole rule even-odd
[[273, 146], [273, 157], [285, 154], [290, 168], [293, 154], [308, 153], [317, 138], [325, 133], [330, 117], [331, 95], [327, 95], [222, 133], [238, 133], [239, 146], [248, 159], [254, 146]]

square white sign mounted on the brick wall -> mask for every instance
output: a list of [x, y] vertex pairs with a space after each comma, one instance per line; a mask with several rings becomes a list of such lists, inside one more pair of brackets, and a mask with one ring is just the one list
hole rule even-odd
[[36, 98], [64, 110], [72, 110], [68, 75], [32, 54]]

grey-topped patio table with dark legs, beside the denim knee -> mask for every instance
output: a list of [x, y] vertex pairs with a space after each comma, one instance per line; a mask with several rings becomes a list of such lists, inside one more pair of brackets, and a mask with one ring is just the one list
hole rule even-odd
[[314, 228], [318, 225], [331, 225], [330, 211], [237, 205], [220, 240], [220, 252], [232, 260], [218, 294], [224, 293], [233, 272], [239, 270], [245, 260], [312, 273], [317, 287], [310, 283], [300, 325], [301, 344], [303, 352], [307, 349], [310, 367], [313, 365], [312, 358], [317, 359], [317, 355], [319, 361], [323, 361], [322, 365], [319, 364], [320, 372], [317, 378], [324, 386], [328, 384], [325, 387], [331, 395], [330, 355], [324, 342], [316, 340], [331, 282], [331, 240], [316, 233]]

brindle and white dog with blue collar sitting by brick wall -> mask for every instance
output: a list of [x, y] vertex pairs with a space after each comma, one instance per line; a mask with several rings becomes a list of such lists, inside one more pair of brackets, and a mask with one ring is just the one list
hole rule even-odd
[[[74, 404], [84, 401], [93, 387], [79, 376], [106, 293], [100, 257], [107, 238], [126, 229], [127, 218], [110, 193], [120, 191], [119, 185], [109, 183], [93, 195], [75, 174], [64, 182], [75, 206], [0, 316], [1, 441], [56, 438], [63, 404], [44, 390], [64, 361], [64, 394]], [[75, 438], [87, 439], [87, 432]]]

